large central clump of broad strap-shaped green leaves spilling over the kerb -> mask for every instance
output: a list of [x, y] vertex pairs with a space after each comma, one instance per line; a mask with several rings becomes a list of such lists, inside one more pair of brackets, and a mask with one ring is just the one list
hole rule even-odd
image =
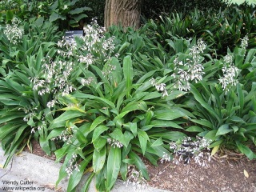
[[[115, 70], [104, 76], [102, 70], [110, 63]], [[85, 73], [94, 81], [58, 99], [67, 106], [50, 126], [48, 139], [65, 141], [55, 152], [58, 161], [65, 158], [57, 185], [68, 176], [67, 191], [73, 191], [82, 175], [90, 172], [82, 191], [94, 177], [98, 190], [110, 191], [118, 175], [126, 180], [130, 165], [149, 179], [141, 156], [156, 166], [159, 158], [170, 154], [168, 142], [185, 136], [170, 130], [182, 129], [178, 119], [190, 115], [172, 102], [181, 92], [162, 98], [150, 83], [155, 71], [135, 79], [130, 56], [123, 59], [122, 67], [111, 58], [102, 69], [90, 66]]]

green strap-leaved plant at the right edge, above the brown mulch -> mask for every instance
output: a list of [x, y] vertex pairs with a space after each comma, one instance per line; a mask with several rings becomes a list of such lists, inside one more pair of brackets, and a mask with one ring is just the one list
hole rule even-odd
[[[191, 121], [199, 125], [188, 127], [188, 131], [199, 132], [199, 135], [214, 141], [211, 147], [238, 148], [250, 159], [256, 158], [247, 146], [250, 142], [255, 144], [256, 87], [254, 78], [250, 78], [256, 73], [254, 55], [255, 50], [245, 54], [244, 48], [236, 48], [232, 56], [230, 53], [223, 60], [224, 77], [219, 79], [222, 85], [202, 81], [191, 86], [194, 98], [190, 104], [187, 102], [198, 116]], [[234, 66], [230, 64], [233, 59]]]

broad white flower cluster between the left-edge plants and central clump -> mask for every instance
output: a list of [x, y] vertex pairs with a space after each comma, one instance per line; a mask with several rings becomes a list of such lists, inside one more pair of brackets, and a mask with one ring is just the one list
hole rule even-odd
[[[70, 84], [70, 74], [74, 70], [74, 62], [51, 61], [50, 58], [44, 60], [42, 65], [42, 76], [30, 78], [33, 82], [34, 90], [38, 90], [39, 95], [43, 94], [69, 94], [75, 90]], [[56, 100], [47, 103], [47, 106], [54, 107]]]

